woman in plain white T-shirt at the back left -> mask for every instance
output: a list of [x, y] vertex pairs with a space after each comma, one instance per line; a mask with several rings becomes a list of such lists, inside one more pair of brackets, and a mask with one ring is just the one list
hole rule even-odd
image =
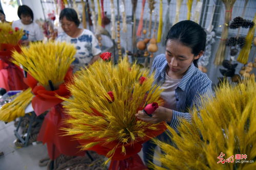
[[26, 6], [18, 6], [19, 20], [13, 21], [12, 28], [23, 29], [22, 45], [29, 45], [29, 41], [42, 41], [44, 34], [37, 23], [33, 22], [34, 14], [32, 10]]

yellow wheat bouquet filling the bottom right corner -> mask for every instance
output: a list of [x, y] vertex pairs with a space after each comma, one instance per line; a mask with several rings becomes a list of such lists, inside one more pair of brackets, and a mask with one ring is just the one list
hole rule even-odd
[[155, 141], [166, 153], [160, 158], [166, 168], [154, 169], [256, 169], [255, 89], [254, 79], [224, 83], [213, 99], [192, 111], [192, 122], [181, 125], [180, 135], [168, 127], [175, 147]]

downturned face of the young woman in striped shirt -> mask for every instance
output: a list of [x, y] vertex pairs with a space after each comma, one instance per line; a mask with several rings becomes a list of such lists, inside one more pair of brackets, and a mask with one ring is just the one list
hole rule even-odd
[[165, 56], [169, 66], [168, 75], [181, 79], [193, 60], [199, 59], [202, 54], [194, 56], [192, 49], [179, 40], [167, 40]]

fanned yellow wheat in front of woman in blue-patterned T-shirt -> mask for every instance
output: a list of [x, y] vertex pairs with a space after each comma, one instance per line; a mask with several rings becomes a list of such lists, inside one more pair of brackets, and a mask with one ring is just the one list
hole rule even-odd
[[22, 65], [41, 85], [60, 84], [64, 81], [70, 64], [74, 61], [75, 47], [65, 42], [36, 42], [14, 52], [13, 63]]

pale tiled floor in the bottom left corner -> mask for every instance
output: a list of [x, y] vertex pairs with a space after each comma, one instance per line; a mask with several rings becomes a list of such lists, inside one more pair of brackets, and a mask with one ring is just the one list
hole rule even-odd
[[0, 122], [0, 170], [45, 170], [38, 166], [40, 159], [47, 157], [47, 148], [43, 144], [29, 145], [26, 148], [16, 148], [13, 122]]

